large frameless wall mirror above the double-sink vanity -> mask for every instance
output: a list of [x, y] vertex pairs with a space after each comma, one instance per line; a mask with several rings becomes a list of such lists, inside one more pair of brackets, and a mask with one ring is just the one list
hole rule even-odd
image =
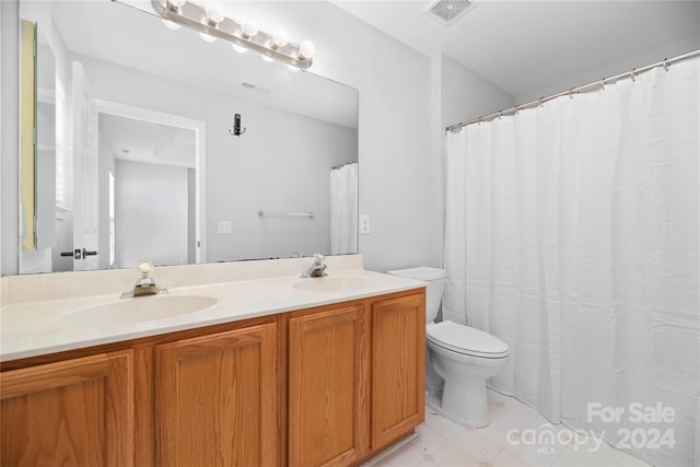
[[148, 5], [20, 1], [20, 272], [357, 253], [358, 91]]

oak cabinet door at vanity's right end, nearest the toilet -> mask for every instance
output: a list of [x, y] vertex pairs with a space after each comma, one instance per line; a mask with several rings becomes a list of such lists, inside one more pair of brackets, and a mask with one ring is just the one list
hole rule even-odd
[[372, 310], [372, 448], [424, 419], [424, 295], [385, 300]]

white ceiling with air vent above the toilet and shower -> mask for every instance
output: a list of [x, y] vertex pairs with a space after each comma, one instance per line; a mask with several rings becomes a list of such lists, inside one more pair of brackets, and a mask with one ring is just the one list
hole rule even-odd
[[448, 26], [427, 13], [433, 1], [331, 2], [513, 96], [700, 35], [699, 0], [474, 0]]

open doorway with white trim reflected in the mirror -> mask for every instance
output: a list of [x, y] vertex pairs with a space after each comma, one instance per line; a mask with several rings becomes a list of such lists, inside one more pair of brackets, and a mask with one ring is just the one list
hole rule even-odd
[[101, 152], [113, 155], [106, 167], [114, 176], [113, 208], [104, 222], [108, 267], [135, 265], [145, 250], [158, 265], [200, 262], [201, 248], [189, 238], [197, 237], [196, 173], [205, 156], [198, 144], [205, 122], [104, 102], [97, 108]]

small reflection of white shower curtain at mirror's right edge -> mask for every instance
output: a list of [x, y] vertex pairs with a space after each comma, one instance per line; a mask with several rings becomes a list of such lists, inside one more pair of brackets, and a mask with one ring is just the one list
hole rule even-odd
[[358, 163], [330, 171], [330, 254], [358, 253]]

